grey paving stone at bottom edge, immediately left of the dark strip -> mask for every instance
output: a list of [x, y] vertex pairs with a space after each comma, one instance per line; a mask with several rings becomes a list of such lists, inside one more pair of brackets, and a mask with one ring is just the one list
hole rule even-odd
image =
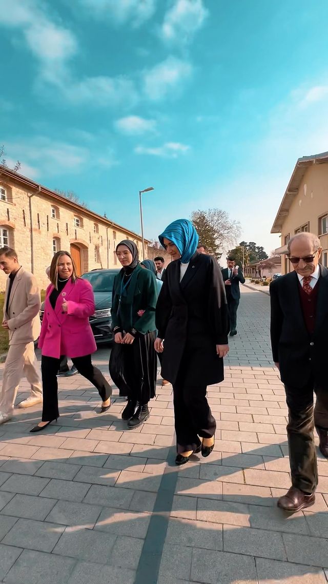
[[[113, 406], [112, 406], [113, 407]], [[103, 566], [92, 562], [79, 562], [68, 584], [133, 584], [135, 572], [127, 568]]]

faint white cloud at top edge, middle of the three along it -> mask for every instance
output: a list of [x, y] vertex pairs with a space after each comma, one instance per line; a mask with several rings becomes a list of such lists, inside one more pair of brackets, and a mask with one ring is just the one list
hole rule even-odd
[[113, 19], [118, 25], [131, 21], [139, 26], [152, 17], [156, 0], [79, 0], [93, 18]]

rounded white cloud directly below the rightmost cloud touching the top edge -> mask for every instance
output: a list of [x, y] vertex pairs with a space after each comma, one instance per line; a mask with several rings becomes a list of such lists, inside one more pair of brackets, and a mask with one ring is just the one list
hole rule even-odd
[[179, 93], [192, 72], [190, 62], [170, 56], [144, 72], [144, 92], [151, 100], [165, 99], [169, 93]]

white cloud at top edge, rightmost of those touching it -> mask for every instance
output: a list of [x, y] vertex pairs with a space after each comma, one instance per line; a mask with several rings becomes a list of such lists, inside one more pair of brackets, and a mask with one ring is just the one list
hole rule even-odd
[[208, 10], [203, 0], [175, 0], [160, 28], [165, 41], [187, 42], [203, 26]]

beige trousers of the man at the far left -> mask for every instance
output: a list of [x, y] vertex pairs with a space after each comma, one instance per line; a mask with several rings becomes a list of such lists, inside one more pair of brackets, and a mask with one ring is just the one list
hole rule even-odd
[[40, 369], [34, 353], [34, 343], [9, 345], [0, 391], [0, 412], [12, 413], [22, 377], [31, 384], [31, 396], [42, 397]]

